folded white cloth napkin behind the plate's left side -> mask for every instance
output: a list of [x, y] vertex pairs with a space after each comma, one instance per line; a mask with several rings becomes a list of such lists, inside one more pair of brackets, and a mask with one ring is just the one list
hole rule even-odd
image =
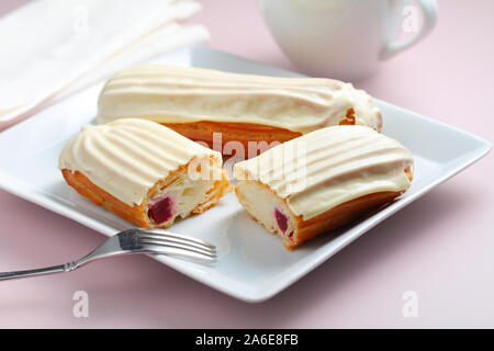
[[0, 19], [0, 131], [158, 54], [209, 39], [194, 1], [35, 0]]

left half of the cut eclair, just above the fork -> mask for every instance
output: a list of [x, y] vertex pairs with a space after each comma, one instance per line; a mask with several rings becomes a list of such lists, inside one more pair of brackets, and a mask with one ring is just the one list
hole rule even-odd
[[144, 228], [167, 228], [232, 190], [220, 152], [138, 118], [83, 126], [58, 167], [79, 194]]

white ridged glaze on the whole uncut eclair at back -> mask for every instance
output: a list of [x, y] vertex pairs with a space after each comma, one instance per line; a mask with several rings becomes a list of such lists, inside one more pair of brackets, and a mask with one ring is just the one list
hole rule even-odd
[[351, 83], [155, 65], [121, 71], [106, 82], [99, 98], [98, 123], [123, 117], [212, 121], [305, 134], [338, 125], [350, 107], [356, 124], [381, 131], [381, 113], [372, 98]]

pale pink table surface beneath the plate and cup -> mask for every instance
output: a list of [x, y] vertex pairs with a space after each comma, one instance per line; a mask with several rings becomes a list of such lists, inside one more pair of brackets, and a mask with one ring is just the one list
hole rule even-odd
[[[2, 1], [0, 13], [23, 2]], [[202, 2], [191, 22], [210, 29], [213, 47], [295, 69], [255, 1]], [[494, 1], [440, 0], [439, 10], [428, 38], [358, 86], [493, 140]], [[493, 160], [490, 154], [266, 303], [246, 304], [149, 258], [124, 257], [0, 283], [0, 327], [492, 328]], [[3, 191], [0, 223], [0, 270], [69, 261], [104, 239]], [[72, 316], [76, 291], [89, 294], [88, 318]], [[405, 291], [417, 293], [416, 318], [402, 314]]]

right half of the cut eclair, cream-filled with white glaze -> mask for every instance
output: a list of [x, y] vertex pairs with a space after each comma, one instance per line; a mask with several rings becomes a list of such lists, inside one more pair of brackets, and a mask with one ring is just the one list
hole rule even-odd
[[292, 250], [407, 191], [414, 159], [364, 126], [334, 126], [276, 146], [234, 167], [250, 216]]

